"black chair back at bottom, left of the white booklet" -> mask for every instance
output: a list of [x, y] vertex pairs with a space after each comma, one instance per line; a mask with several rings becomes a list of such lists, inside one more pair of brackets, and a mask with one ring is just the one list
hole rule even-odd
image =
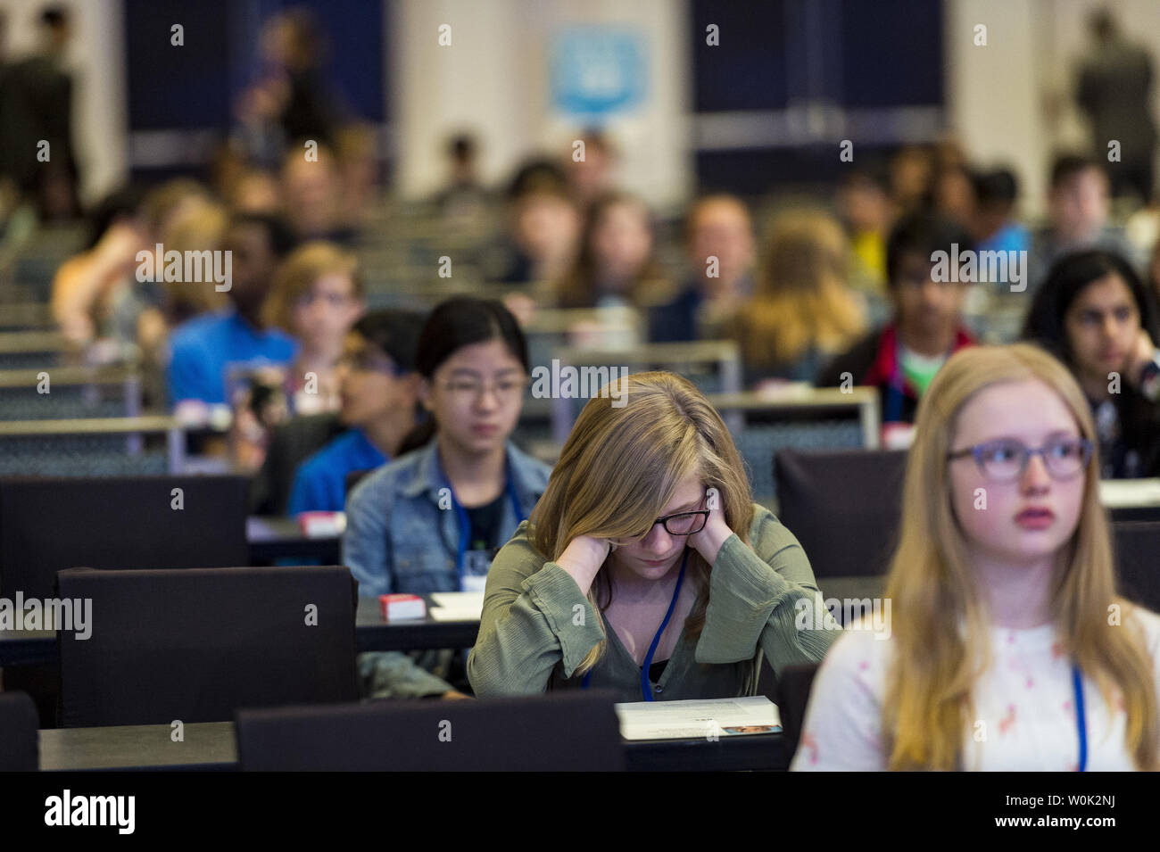
[[619, 771], [615, 696], [369, 701], [239, 711], [248, 771]]

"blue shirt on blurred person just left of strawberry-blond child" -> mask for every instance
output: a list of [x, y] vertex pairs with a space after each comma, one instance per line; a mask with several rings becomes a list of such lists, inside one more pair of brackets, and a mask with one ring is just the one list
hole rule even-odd
[[174, 330], [169, 345], [172, 357], [166, 370], [169, 405], [182, 400], [223, 403], [230, 366], [289, 364], [298, 354], [298, 343], [292, 337], [277, 330], [255, 329], [233, 310], [182, 323]]

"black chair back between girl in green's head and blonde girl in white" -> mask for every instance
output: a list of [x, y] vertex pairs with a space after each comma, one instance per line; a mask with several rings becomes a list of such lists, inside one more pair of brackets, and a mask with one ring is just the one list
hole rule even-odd
[[774, 457], [778, 519], [815, 577], [885, 574], [901, 518], [905, 450], [855, 450]]

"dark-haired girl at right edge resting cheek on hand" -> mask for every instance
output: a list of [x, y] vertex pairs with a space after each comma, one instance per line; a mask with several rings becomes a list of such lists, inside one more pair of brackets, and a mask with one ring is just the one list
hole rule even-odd
[[1160, 476], [1160, 318], [1129, 263], [1092, 249], [1056, 262], [1023, 328], [1083, 389], [1105, 479]]

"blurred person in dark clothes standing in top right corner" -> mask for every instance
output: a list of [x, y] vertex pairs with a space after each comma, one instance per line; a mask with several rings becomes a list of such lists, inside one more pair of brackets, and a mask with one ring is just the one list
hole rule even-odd
[[1153, 194], [1157, 126], [1152, 118], [1152, 57], [1123, 37], [1108, 9], [1088, 20], [1093, 51], [1082, 61], [1075, 102], [1092, 125], [1093, 152], [1101, 160], [1119, 143], [1119, 161], [1109, 162], [1111, 195], [1133, 192], [1147, 205]]

